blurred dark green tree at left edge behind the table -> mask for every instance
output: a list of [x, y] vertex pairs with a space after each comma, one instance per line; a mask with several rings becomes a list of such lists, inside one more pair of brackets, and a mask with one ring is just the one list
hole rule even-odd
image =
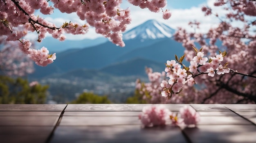
[[44, 104], [48, 86], [0, 75], [0, 104]]

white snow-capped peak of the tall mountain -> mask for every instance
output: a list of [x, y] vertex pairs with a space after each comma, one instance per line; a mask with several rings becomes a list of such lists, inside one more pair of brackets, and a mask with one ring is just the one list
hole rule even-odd
[[123, 35], [123, 40], [170, 38], [173, 36], [174, 32], [174, 29], [165, 24], [157, 22], [156, 20], [148, 20], [143, 24], [125, 32]]

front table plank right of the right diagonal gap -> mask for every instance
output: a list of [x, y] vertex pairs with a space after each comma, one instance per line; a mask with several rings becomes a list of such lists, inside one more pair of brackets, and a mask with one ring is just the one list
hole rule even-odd
[[185, 128], [193, 143], [255, 143], [256, 126], [252, 125], [198, 125]]

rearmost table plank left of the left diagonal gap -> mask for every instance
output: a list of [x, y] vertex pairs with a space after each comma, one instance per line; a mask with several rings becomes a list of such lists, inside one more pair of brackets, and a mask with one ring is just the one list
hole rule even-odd
[[0, 111], [63, 111], [67, 104], [0, 104]]

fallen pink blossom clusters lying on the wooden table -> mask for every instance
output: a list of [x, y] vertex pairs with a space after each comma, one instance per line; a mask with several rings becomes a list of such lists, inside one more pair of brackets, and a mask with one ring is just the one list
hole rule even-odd
[[142, 113], [139, 115], [141, 123], [145, 127], [165, 126], [172, 124], [173, 126], [186, 126], [198, 124], [200, 115], [191, 106], [180, 108], [180, 115], [169, 111], [163, 105], [144, 106]]

